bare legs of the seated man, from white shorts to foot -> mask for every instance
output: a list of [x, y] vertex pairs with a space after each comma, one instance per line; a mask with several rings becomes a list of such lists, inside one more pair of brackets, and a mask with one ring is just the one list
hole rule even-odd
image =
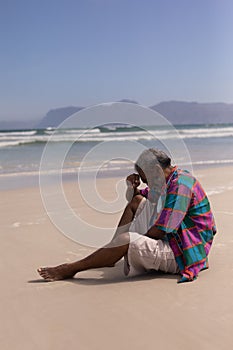
[[[72, 278], [76, 273], [100, 267], [113, 267], [128, 251], [129, 234], [126, 232], [137, 211], [142, 196], [135, 196], [126, 206], [120, 219], [113, 240], [105, 247], [98, 249], [86, 258], [58, 265], [55, 267], [39, 268], [37, 271], [47, 281]], [[120, 233], [120, 235], [119, 235]]]

